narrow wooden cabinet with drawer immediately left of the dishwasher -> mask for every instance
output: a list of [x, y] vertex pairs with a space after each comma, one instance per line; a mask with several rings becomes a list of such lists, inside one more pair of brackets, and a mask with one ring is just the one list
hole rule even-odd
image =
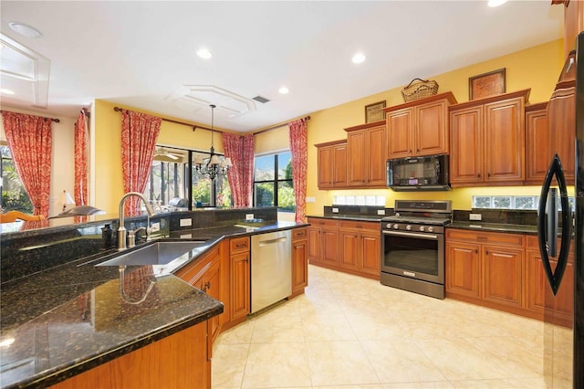
[[229, 240], [230, 258], [230, 325], [245, 321], [250, 312], [250, 240], [235, 237]]

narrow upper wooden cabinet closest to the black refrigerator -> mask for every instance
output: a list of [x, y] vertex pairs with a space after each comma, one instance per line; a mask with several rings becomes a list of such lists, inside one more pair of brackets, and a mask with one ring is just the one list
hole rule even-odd
[[526, 184], [544, 182], [550, 159], [547, 142], [547, 102], [526, 107]]

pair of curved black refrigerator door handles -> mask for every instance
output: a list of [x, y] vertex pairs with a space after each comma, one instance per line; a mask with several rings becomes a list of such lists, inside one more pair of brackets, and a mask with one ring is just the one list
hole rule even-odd
[[[547, 242], [546, 242], [546, 209], [547, 209], [547, 193], [550, 190], [551, 181], [556, 176], [559, 186], [559, 196], [562, 205], [562, 235], [561, 235], [561, 248], [559, 249], [558, 265], [556, 269], [552, 270], [549, 263], [549, 255], [547, 252]], [[553, 207], [555, 208], [555, 207]], [[556, 217], [556, 216], [551, 216]], [[558, 154], [554, 156], [552, 162], [549, 164], [549, 169], [546, 173], [546, 179], [541, 187], [541, 195], [539, 196], [539, 208], [537, 212], [537, 237], [539, 241], [539, 253], [541, 254], [541, 261], [543, 263], [544, 270], [546, 272], [547, 282], [551, 288], [554, 296], [558, 293], [559, 285], [562, 281], [564, 275], [564, 270], [568, 265], [568, 254], [569, 254], [569, 241], [571, 237], [571, 215], [568, 203], [568, 191], [566, 186], [566, 178], [564, 177], [564, 171], [562, 170], [562, 164], [559, 161]], [[549, 234], [551, 235], [551, 234]], [[558, 238], [558, 234], [555, 233], [553, 236], [548, 236], [547, 239], [550, 242], [553, 240], [555, 245], [555, 240]], [[555, 250], [554, 250], [555, 251]]]

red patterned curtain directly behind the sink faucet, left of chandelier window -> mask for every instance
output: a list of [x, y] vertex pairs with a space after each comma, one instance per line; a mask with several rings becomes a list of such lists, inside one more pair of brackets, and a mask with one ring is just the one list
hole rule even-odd
[[[124, 176], [124, 193], [144, 192], [156, 139], [161, 131], [162, 119], [131, 110], [121, 110], [121, 166]], [[138, 215], [141, 200], [130, 196], [125, 215]]]

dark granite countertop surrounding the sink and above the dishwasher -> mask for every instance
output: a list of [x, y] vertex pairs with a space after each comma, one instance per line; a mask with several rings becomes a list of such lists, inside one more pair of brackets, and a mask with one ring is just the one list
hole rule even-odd
[[116, 250], [3, 282], [0, 386], [56, 384], [220, 314], [221, 301], [172, 273], [223, 237], [298, 226], [305, 225], [269, 222], [172, 232], [167, 238], [209, 240], [169, 265], [127, 267], [121, 281], [125, 297], [119, 268], [95, 266], [115, 257]]

